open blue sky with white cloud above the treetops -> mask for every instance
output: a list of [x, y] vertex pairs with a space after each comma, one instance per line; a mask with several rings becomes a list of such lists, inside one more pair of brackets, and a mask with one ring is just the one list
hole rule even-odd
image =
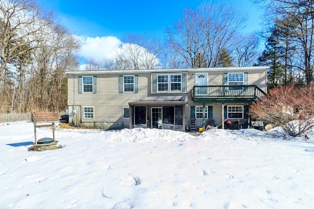
[[[222, 0], [213, 0], [221, 2]], [[248, 15], [243, 32], [260, 28], [262, 9], [250, 0], [223, 0]], [[123, 36], [148, 33], [163, 38], [184, 8], [196, 8], [204, 0], [39, 0], [54, 10], [62, 25], [81, 38], [81, 56], [95, 60], [112, 56]]]

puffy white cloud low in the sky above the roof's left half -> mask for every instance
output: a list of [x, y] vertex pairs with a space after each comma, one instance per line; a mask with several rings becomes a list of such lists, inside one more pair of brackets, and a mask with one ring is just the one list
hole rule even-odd
[[95, 61], [115, 57], [114, 49], [122, 44], [118, 38], [113, 36], [80, 37], [80, 40], [82, 44], [80, 55], [87, 60], [92, 58]]

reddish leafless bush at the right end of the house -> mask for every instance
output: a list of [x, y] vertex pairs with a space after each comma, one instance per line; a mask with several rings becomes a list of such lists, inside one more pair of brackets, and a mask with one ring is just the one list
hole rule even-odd
[[251, 116], [299, 137], [314, 127], [313, 87], [291, 85], [272, 89], [265, 99], [251, 106]]

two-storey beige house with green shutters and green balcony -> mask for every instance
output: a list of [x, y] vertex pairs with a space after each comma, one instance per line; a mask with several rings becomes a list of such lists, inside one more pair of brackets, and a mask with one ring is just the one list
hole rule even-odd
[[68, 71], [69, 121], [97, 128], [187, 131], [226, 119], [250, 125], [268, 67]]

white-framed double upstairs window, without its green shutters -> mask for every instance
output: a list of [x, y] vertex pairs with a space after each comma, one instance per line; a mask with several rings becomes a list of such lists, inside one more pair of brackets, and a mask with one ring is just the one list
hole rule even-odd
[[181, 92], [182, 74], [157, 75], [157, 88], [158, 92]]

